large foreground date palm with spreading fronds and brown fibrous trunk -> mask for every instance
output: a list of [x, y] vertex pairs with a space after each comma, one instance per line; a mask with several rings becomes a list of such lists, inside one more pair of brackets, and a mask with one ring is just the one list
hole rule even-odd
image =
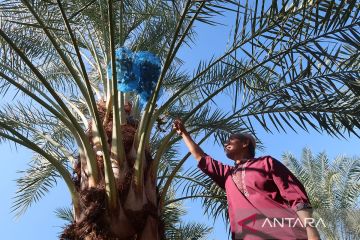
[[[4, 0], [0, 11], [0, 92], [15, 97], [2, 104], [0, 137], [34, 152], [14, 210], [63, 179], [73, 205], [64, 239], [182, 238], [165, 224], [169, 206], [216, 204], [215, 192], [170, 194], [196, 180], [182, 174], [190, 154], [177, 152], [175, 118], [200, 144], [255, 133], [253, 121], [358, 135], [357, 1]], [[234, 16], [226, 51], [185, 71], [179, 50], [221, 14]], [[124, 46], [161, 60], [145, 100], [118, 91]], [[224, 93], [230, 107], [216, 104]]]

